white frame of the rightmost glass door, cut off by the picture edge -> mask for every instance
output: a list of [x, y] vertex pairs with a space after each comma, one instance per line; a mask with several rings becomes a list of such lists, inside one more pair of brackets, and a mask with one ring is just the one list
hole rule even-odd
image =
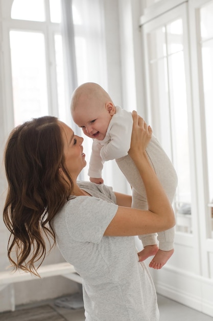
[[[198, 10], [209, 0], [190, 0], [188, 2], [189, 27], [191, 31], [191, 61], [192, 61], [192, 94], [194, 109], [194, 137], [196, 141], [195, 156], [197, 160], [197, 204], [198, 204], [198, 225], [200, 231], [200, 257], [204, 276], [209, 277], [210, 253], [213, 253], [213, 219], [209, 220], [209, 192], [208, 192], [208, 172], [207, 172], [207, 146], [205, 131], [204, 91], [202, 74], [202, 56], [199, 45], [200, 19]], [[211, 254], [212, 255], [212, 254]]]

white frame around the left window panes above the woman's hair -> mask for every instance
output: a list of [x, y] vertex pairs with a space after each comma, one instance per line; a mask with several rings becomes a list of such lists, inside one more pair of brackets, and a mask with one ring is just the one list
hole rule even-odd
[[[8, 130], [14, 127], [13, 122], [13, 92], [12, 92], [12, 70], [10, 54], [10, 31], [41, 32], [44, 35], [45, 42], [45, 61], [46, 61], [46, 79], [47, 79], [47, 96], [49, 114], [58, 117], [58, 94], [57, 94], [57, 77], [55, 61], [54, 34], [61, 33], [60, 24], [50, 22], [50, 12], [46, 9], [46, 21], [34, 22], [24, 21], [11, 18], [11, 6], [13, 1], [8, 3], [6, 16], [3, 17], [3, 54], [4, 54], [4, 90], [5, 90], [5, 121]], [[46, 0], [45, 6], [48, 8]], [[4, 12], [3, 11], [3, 12]], [[7, 106], [7, 107], [6, 107]]]

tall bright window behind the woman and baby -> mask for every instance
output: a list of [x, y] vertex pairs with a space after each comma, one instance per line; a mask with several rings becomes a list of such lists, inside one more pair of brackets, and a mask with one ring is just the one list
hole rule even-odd
[[[4, 16], [7, 17], [3, 28], [4, 68], [8, 75], [4, 113], [8, 131], [33, 117], [50, 114], [82, 135], [70, 116], [70, 95], [76, 86], [88, 81], [106, 87], [101, 2], [72, 1], [75, 48], [72, 47], [73, 56], [68, 54], [68, 59], [76, 64], [77, 81], [72, 84], [74, 88], [70, 88], [64, 60], [67, 53], [61, 30], [61, 0], [4, 1]], [[91, 140], [87, 137], [84, 137], [84, 150], [89, 159]], [[88, 165], [82, 179], [88, 179], [87, 170]]]

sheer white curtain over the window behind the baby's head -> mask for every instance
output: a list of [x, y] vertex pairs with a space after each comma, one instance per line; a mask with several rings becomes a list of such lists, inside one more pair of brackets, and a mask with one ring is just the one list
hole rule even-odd
[[[101, 0], [61, 0], [62, 38], [65, 64], [66, 104], [70, 105], [73, 90], [86, 82], [100, 84], [107, 90], [104, 14]], [[88, 180], [87, 171], [92, 141], [73, 123], [68, 108], [67, 123], [84, 138], [87, 166], [79, 179]], [[111, 164], [105, 164], [107, 179]], [[103, 172], [103, 173], [104, 173]], [[109, 178], [109, 181], [112, 181]]]

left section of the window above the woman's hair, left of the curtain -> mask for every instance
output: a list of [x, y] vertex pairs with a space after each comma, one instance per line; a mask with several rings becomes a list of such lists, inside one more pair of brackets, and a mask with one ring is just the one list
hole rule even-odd
[[46, 114], [65, 120], [60, 0], [14, 0], [11, 18], [14, 126]]

